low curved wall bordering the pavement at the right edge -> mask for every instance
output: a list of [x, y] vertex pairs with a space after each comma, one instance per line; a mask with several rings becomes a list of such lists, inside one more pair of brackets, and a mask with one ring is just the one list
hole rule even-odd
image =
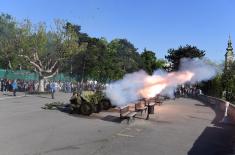
[[[211, 96], [206, 96], [206, 95], [198, 95], [197, 99], [199, 99], [202, 102], [206, 102], [208, 104], [215, 105], [216, 110], [221, 110], [222, 112], [225, 112], [226, 102], [227, 102], [225, 100], [211, 97]], [[232, 121], [232, 123], [235, 124], [235, 106], [233, 104], [229, 104], [228, 117]]]

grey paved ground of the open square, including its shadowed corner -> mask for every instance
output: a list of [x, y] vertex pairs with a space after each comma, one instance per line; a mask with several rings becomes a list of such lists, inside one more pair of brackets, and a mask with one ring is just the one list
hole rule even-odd
[[[24, 94], [18, 94], [24, 96]], [[71, 94], [57, 93], [57, 101]], [[7, 99], [8, 98], [8, 99]], [[0, 95], [0, 155], [228, 155], [233, 126], [218, 123], [219, 113], [180, 98], [156, 106], [128, 125], [118, 113], [90, 117], [44, 110], [50, 96]]]

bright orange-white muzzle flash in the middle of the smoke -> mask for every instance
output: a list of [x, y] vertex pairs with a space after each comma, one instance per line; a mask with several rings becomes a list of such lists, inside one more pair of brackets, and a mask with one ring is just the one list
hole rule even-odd
[[144, 88], [139, 91], [139, 94], [144, 98], [155, 97], [166, 87], [188, 82], [193, 76], [194, 73], [190, 71], [171, 72], [165, 76], [148, 76], [144, 79]]

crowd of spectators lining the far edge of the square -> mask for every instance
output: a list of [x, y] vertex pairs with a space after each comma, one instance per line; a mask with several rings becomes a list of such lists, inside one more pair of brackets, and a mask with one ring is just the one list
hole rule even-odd
[[[35, 93], [39, 90], [39, 81], [26, 81], [26, 80], [10, 80], [10, 79], [1, 79], [0, 90], [3, 92], [3, 95], [7, 95], [8, 92], [12, 92], [16, 96], [16, 92], [27, 92]], [[82, 92], [82, 90], [103, 90], [106, 85], [98, 83], [97, 81], [86, 81], [86, 82], [70, 82], [70, 81], [44, 81], [44, 90], [51, 93], [52, 98], [54, 98], [54, 93], [61, 91], [65, 93], [72, 92]], [[175, 97], [188, 96], [188, 95], [197, 95], [202, 94], [202, 91], [195, 86], [179, 86], [174, 93]]]

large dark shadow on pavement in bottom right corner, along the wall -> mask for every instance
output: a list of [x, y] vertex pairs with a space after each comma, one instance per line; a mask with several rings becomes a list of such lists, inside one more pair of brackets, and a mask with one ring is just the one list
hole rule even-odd
[[207, 127], [202, 132], [189, 150], [188, 155], [233, 155], [235, 126], [221, 123], [223, 112], [214, 105], [204, 104], [211, 107], [216, 114], [211, 122], [214, 126]]

